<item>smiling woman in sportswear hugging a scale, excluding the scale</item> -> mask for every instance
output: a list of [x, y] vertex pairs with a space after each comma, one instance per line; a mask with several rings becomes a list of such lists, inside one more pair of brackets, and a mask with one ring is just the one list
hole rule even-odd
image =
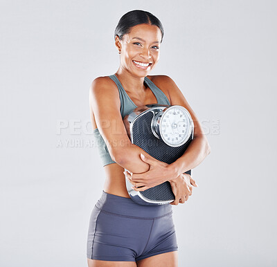
[[[192, 194], [193, 178], [183, 174], [210, 153], [195, 113], [167, 75], [149, 75], [159, 61], [163, 26], [157, 17], [132, 10], [121, 17], [114, 33], [120, 66], [114, 75], [97, 77], [90, 88], [93, 133], [106, 181], [91, 212], [87, 262], [92, 266], [177, 266], [177, 237], [172, 205]], [[172, 62], [170, 62], [172, 63]], [[190, 112], [194, 139], [186, 154], [168, 165], [156, 160], [127, 136], [123, 118], [144, 104], [178, 104]], [[124, 172], [124, 168], [129, 172]], [[175, 201], [145, 206], [130, 198], [125, 177], [141, 191], [170, 181]], [[138, 188], [139, 187], [139, 188]]]

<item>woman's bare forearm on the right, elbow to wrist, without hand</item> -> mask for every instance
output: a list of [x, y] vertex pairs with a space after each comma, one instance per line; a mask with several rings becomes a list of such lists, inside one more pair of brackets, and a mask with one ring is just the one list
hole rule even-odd
[[206, 136], [195, 136], [190, 142], [190, 145], [186, 149], [185, 153], [171, 163], [169, 167], [175, 173], [175, 176], [179, 176], [190, 169], [197, 167], [208, 154], [211, 152], [211, 147], [208, 145]]

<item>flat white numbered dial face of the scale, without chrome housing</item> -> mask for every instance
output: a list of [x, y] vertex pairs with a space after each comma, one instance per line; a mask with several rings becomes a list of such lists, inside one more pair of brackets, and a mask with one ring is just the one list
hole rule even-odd
[[168, 145], [183, 145], [190, 134], [190, 117], [186, 109], [172, 107], [166, 110], [161, 118], [160, 133]]

